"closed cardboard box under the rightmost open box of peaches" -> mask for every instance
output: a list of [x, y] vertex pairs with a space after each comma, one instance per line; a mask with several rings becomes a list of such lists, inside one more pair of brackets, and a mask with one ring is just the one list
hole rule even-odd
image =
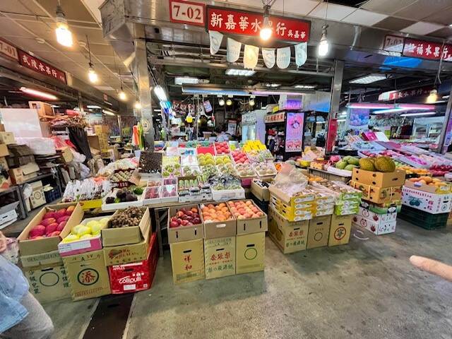
[[236, 239], [237, 274], [263, 270], [266, 251], [266, 232], [237, 234]]

